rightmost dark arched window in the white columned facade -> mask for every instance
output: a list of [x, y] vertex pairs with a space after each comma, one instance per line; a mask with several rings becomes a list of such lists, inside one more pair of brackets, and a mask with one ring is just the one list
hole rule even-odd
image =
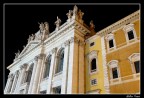
[[58, 63], [57, 63], [55, 73], [59, 73], [63, 70], [63, 62], [64, 62], [64, 49], [60, 50], [58, 54]]

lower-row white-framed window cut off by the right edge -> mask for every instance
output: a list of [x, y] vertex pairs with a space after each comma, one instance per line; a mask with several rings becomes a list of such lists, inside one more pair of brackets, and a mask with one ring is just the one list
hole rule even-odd
[[132, 72], [133, 74], [140, 72], [140, 54], [139, 53], [133, 53], [129, 57], [131, 66], [132, 66]]

